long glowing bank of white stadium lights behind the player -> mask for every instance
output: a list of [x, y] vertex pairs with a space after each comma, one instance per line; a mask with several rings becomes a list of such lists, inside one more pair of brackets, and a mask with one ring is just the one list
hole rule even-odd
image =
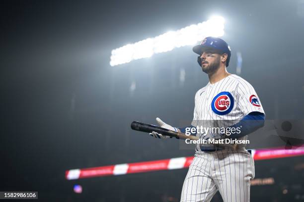
[[110, 65], [124, 64], [135, 59], [151, 57], [155, 53], [194, 45], [205, 37], [221, 37], [224, 35], [224, 23], [225, 19], [223, 17], [213, 16], [205, 22], [114, 49], [112, 50]]

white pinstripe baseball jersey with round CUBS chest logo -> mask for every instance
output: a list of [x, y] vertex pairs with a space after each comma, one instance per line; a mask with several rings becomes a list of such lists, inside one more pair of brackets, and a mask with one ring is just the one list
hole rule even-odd
[[[264, 113], [254, 88], [241, 77], [231, 74], [215, 84], [209, 82], [197, 91], [191, 125], [226, 128], [253, 111]], [[202, 138], [202, 134], [197, 136]], [[217, 138], [215, 136], [218, 135], [208, 133], [204, 139]], [[247, 136], [241, 139], [246, 140]]]

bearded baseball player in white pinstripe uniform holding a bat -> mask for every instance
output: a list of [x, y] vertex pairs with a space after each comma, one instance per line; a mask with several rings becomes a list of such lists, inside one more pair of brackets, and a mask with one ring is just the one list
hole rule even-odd
[[[226, 132], [195, 132], [204, 140], [247, 140], [247, 135], [264, 125], [265, 113], [254, 88], [241, 77], [228, 73], [231, 51], [219, 38], [207, 37], [193, 47], [209, 83], [195, 95], [191, 126], [172, 127], [156, 118], [160, 127], [184, 132], [187, 128], [218, 127]], [[227, 133], [238, 128], [239, 133]], [[189, 131], [189, 130], [188, 130]], [[152, 132], [155, 138], [168, 136]], [[254, 178], [254, 161], [245, 144], [197, 144], [194, 159], [185, 178], [181, 202], [210, 202], [217, 191], [224, 202], [249, 202], [250, 179]]]

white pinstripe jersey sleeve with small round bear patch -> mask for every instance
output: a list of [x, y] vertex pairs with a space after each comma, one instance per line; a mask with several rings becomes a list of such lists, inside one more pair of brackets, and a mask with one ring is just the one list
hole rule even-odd
[[261, 101], [254, 88], [245, 81], [237, 85], [237, 107], [243, 113], [243, 116], [258, 111], [265, 114]]

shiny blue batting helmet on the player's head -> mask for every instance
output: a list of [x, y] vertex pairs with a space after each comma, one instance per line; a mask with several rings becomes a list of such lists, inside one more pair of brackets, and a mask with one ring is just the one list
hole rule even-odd
[[[231, 50], [228, 44], [223, 39], [216, 37], [206, 37], [200, 45], [193, 47], [192, 50], [195, 53], [201, 55], [204, 52], [204, 50], [210, 50], [210, 49], [219, 50], [221, 53], [227, 53], [228, 57], [226, 61], [226, 66], [228, 67], [231, 56]], [[200, 66], [202, 65], [202, 60], [200, 56], [197, 57], [197, 62], [199, 63]]]

